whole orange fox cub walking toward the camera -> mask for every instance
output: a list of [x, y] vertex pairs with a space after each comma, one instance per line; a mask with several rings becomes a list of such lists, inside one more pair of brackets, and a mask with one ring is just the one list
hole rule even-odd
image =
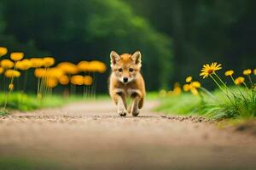
[[[146, 95], [145, 82], [141, 74], [142, 54], [110, 53], [111, 74], [109, 77], [109, 95], [117, 105], [119, 116], [138, 116], [143, 108]], [[131, 98], [131, 105], [127, 108], [126, 99]]]

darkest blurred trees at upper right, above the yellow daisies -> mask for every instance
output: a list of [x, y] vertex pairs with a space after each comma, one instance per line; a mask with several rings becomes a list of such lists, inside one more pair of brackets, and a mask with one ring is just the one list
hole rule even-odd
[[218, 61], [240, 71], [256, 62], [253, 0], [125, 0], [159, 31], [173, 37], [174, 77], [198, 77], [201, 65]]

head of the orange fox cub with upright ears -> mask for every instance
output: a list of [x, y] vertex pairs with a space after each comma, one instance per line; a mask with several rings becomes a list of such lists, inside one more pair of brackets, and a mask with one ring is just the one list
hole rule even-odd
[[111, 69], [119, 82], [129, 83], [137, 79], [142, 66], [142, 54], [137, 51], [134, 54], [110, 53]]

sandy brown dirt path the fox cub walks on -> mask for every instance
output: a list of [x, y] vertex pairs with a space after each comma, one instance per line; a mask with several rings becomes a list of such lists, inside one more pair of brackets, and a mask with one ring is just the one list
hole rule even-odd
[[155, 105], [138, 117], [117, 116], [110, 101], [2, 116], [0, 169], [256, 169], [253, 135]]

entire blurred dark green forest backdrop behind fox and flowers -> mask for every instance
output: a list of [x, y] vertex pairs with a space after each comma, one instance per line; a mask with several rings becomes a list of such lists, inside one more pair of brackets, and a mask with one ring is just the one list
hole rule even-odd
[[[172, 88], [199, 79], [212, 61], [224, 71], [255, 66], [255, 7], [254, 0], [0, 0], [0, 45], [75, 64], [109, 65], [111, 50], [140, 50], [147, 89]], [[101, 93], [109, 71], [98, 78]]]

